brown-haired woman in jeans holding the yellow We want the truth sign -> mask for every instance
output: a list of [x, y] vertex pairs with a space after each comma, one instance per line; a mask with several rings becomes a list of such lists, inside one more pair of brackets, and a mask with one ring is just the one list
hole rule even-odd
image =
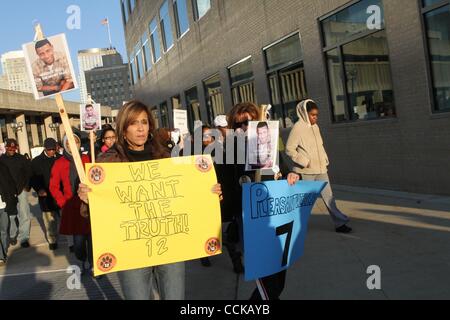
[[[125, 104], [117, 117], [117, 142], [102, 154], [98, 162], [139, 162], [169, 158], [162, 142], [154, 137], [155, 119], [149, 108], [139, 101]], [[88, 186], [81, 184], [80, 198], [88, 203]], [[213, 193], [222, 196], [220, 185]], [[158, 288], [153, 287], [153, 276]], [[184, 262], [119, 272], [120, 284], [127, 300], [148, 300], [157, 291], [162, 300], [183, 300], [185, 293]]]

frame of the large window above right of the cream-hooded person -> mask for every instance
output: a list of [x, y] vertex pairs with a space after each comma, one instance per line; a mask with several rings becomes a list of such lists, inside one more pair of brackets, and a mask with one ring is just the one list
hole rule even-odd
[[[373, 121], [380, 121], [380, 120], [387, 120], [387, 119], [396, 119], [398, 118], [397, 116], [397, 105], [396, 105], [396, 98], [395, 98], [395, 91], [394, 91], [394, 81], [392, 78], [392, 66], [391, 66], [391, 59], [390, 59], [390, 49], [389, 49], [389, 43], [387, 41], [387, 32], [386, 32], [386, 21], [384, 22], [384, 25], [381, 29], [375, 29], [375, 30], [370, 30], [367, 29], [364, 32], [360, 32], [357, 34], [354, 34], [344, 40], [341, 41], [337, 41], [335, 44], [333, 45], [329, 45], [329, 46], [325, 46], [325, 33], [324, 33], [324, 29], [323, 29], [323, 22], [324, 20], [330, 18], [331, 16], [345, 10], [348, 9], [349, 7], [357, 4], [358, 2], [361, 1], [365, 1], [365, 0], [353, 0], [335, 10], [333, 10], [332, 12], [319, 17], [317, 19], [317, 24], [318, 24], [318, 28], [319, 28], [319, 37], [320, 37], [320, 44], [322, 47], [322, 63], [325, 67], [325, 77], [327, 80], [327, 93], [328, 93], [328, 105], [329, 105], [329, 115], [330, 115], [330, 122], [332, 125], [340, 125], [340, 124], [355, 124], [355, 123], [371, 123]], [[383, 10], [384, 10], [384, 0], [381, 0], [381, 2], [383, 3]], [[348, 97], [348, 84], [347, 81], [345, 81], [347, 78], [345, 76], [345, 61], [344, 61], [344, 54], [343, 54], [343, 47], [349, 43], [352, 43], [354, 41], [357, 41], [359, 39], [363, 39], [366, 38], [368, 36], [371, 36], [373, 34], [376, 34], [378, 32], [384, 31], [386, 33], [386, 46], [388, 48], [388, 55], [389, 55], [389, 71], [390, 71], [390, 75], [391, 75], [391, 84], [392, 84], [392, 98], [393, 98], [393, 103], [394, 103], [394, 110], [395, 110], [395, 116], [393, 117], [379, 117], [379, 118], [375, 118], [375, 119], [368, 119], [368, 120], [364, 120], [364, 121], [358, 121], [358, 120], [352, 120], [351, 116], [350, 116], [350, 101], [349, 101], [349, 97]], [[340, 61], [340, 78], [342, 81], [342, 90], [343, 90], [343, 94], [344, 94], [344, 112], [345, 112], [345, 116], [347, 118], [347, 120], [345, 121], [336, 121], [336, 117], [334, 114], [334, 104], [333, 104], [333, 99], [332, 99], [332, 92], [331, 92], [331, 82], [330, 82], [330, 73], [328, 70], [328, 59], [327, 59], [327, 53], [336, 49], [337, 53], [338, 53], [338, 57], [339, 57], [339, 61]]]

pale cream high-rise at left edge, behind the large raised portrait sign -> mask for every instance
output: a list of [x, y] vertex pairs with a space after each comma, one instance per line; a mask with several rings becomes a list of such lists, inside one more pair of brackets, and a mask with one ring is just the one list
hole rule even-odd
[[3, 89], [32, 92], [22, 51], [11, 51], [2, 54], [1, 63], [3, 79], [0, 79], [0, 86]]

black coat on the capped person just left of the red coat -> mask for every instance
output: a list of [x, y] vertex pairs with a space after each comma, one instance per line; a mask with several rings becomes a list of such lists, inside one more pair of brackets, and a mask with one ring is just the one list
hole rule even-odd
[[55, 157], [49, 158], [45, 155], [45, 151], [38, 157], [31, 161], [32, 176], [30, 185], [39, 194], [39, 190], [47, 192], [46, 197], [39, 197], [39, 205], [43, 212], [57, 211], [58, 206], [55, 199], [50, 193], [50, 177], [51, 171], [56, 160], [61, 158], [61, 155], [56, 154]]

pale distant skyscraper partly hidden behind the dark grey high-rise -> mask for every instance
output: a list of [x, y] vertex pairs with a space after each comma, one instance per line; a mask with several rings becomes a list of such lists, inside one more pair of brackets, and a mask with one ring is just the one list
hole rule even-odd
[[114, 48], [100, 49], [93, 48], [88, 50], [78, 51], [78, 68], [80, 70], [80, 98], [82, 103], [87, 103], [88, 90], [86, 86], [85, 72], [94, 68], [103, 66], [103, 56], [117, 54], [117, 50]]

